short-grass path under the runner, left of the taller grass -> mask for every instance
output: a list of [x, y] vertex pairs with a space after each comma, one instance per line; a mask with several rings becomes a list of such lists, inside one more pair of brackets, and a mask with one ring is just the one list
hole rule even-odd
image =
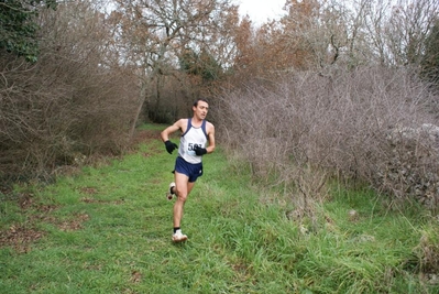
[[[14, 247], [0, 249], [0, 293], [207, 293], [228, 288], [234, 272], [215, 244], [212, 215], [240, 190], [221, 188], [227, 161], [220, 152], [205, 160], [186, 206], [183, 226], [189, 241], [173, 244], [173, 202], [165, 197], [174, 155], [160, 141], [106, 166], [34, 189], [21, 211], [3, 204], [3, 231]], [[234, 185], [234, 186], [233, 186]], [[30, 193], [26, 190], [25, 193]], [[248, 193], [242, 187], [244, 197]], [[250, 195], [249, 195], [250, 196]], [[233, 199], [233, 202], [237, 202]], [[21, 225], [14, 225], [21, 224]], [[11, 226], [8, 230], [7, 226]], [[14, 227], [14, 228], [12, 228]], [[41, 238], [26, 242], [25, 233]], [[37, 235], [39, 237], [39, 235]], [[213, 242], [212, 242], [213, 241]], [[206, 292], [207, 291], [207, 292]]]

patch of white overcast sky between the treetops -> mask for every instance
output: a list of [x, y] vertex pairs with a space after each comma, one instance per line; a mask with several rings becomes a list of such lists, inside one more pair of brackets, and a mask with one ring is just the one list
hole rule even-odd
[[240, 6], [242, 15], [249, 14], [250, 19], [260, 24], [267, 19], [277, 19], [284, 13], [282, 7], [285, 0], [233, 0]]

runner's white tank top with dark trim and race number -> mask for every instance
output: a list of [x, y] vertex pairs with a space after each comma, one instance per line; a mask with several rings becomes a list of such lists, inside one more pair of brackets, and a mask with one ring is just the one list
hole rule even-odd
[[200, 163], [201, 156], [195, 154], [196, 145], [206, 148], [207, 143], [206, 120], [202, 120], [201, 127], [195, 128], [191, 119], [187, 120], [187, 130], [179, 140], [178, 155], [188, 163]]

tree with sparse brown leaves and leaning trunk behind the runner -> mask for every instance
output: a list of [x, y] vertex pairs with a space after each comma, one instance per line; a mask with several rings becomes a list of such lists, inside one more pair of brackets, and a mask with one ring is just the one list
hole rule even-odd
[[[230, 58], [227, 28], [238, 21], [229, 0], [116, 1], [113, 19], [120, 28], [122, 58], [136, 67], [141, 84], [132, 130], [146, 104], [158, 111], [164, 79], [178, 78], [179, 61], [187, 48], [208, 48], [218, 59]], [[154, 89], [154, 91], [152, 90]], [[194, 97], [189, 97], [193, 99]]]

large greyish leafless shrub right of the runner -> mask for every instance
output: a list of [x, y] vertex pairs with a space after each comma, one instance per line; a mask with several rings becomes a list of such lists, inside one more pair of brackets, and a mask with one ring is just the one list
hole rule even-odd
[[[396, 182], [376, 181], [377, 173], [394, 164], [391, 130], [436, 123], [428, 112], [433, 99], [405, 69], [294, 73], [270, 90], [255, 83], [224, 95], [218, 126], [221, 140], [242, 150], [255, 174], [270, 177], [275, 171], [279, 184], [292, 183], [290, 173], [282, 171], [295, 165], [409, 197]], [[437, 171], [438, 161], [422, 162], [422, 168]], [[297, 179], [293, 182], [299, 187]]]

